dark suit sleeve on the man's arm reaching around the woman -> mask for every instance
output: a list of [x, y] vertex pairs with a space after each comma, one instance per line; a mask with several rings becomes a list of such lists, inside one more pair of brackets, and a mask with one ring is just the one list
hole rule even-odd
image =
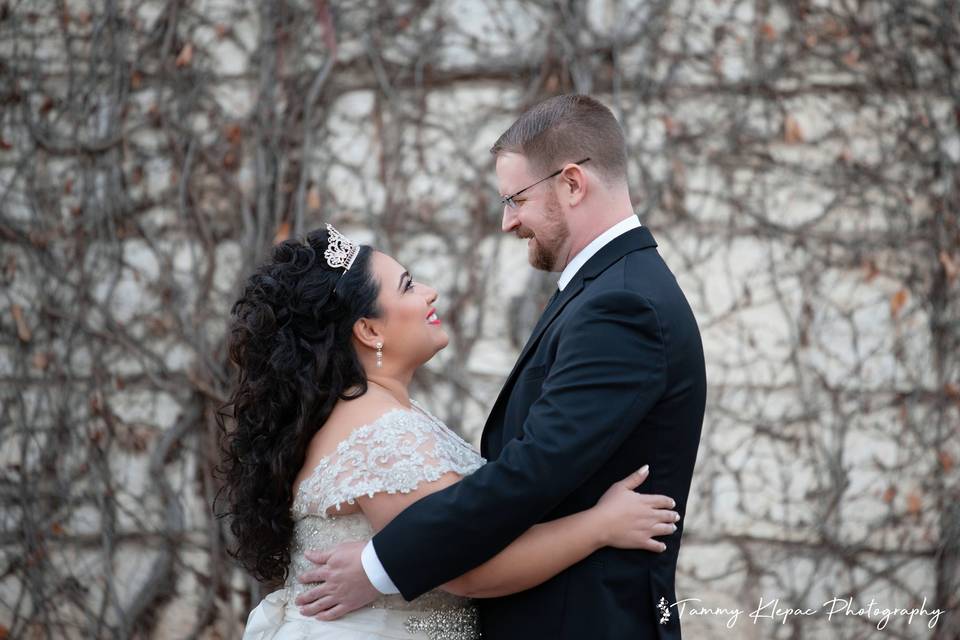
[[404, 598], [486, 562], [541, 521], [627, 439], [666, 388], [656, 310], [628, 291], [596, 296], [562, 330], [522, 437], [460, 482], [404, 510], [373, 539]]

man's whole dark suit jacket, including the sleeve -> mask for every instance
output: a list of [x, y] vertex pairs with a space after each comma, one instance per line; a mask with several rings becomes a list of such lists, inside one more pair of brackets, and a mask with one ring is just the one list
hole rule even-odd
[[[703, 347], [645, 227], [603, 247], [548, 306], [484, 426], [489, 460], [417, 501], [374, 537], [410, 600], [482, 564], [527, 528], [596, 504], [644, 464], [638, 491], [686, 511], [706, 399]], [[484, 636], [679, 638], [678, 530], [667, 550], [604, 548], [547, 582], [481, 599]]]

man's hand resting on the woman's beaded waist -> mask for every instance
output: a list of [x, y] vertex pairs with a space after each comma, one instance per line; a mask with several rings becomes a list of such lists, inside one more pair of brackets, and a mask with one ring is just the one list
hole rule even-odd
[[317, 620], [336, 620], [365, 607], [380, 596], [363, 571], [360, 554], [366, 542], [346, 542], [323, 553], [304, 555], [318, 565], [300, 575], [303, 583], [320, 584], [296, 599], [300, 613]]

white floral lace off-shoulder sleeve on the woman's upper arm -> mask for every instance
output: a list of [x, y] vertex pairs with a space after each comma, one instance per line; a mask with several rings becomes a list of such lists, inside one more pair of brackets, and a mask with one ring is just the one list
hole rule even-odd
[[294, 511], [326, 517], [379, 492], [409, 493], [447, 472], [467, 475], [485, 460], [432, 416], [394, 409], [355, 429], [301, 484]]

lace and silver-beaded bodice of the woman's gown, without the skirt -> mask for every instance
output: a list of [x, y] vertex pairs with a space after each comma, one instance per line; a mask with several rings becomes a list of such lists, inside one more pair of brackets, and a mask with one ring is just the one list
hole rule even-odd
[[[372, 537], [362, 513], [336, 513], [344, 504], [380, 492], [409, 493], [445, 473], [467, 475], [484, 464], [480, 454], [443, 422], [413, 404], [414, 409], [393, 409], [355, 429], [300, 483], [292, 507], [294, 538], [286, 584], [291, 600], [311, 588], [297, 581], [315, 566], [304, 552]], [[430, 612], [432, 619], [411, 617], [410, 623], [431, 638], [476, 637], [472, 633], [476, 612], [469, 600], [444, 591], [434, 590], [411, 602], [400, 595], [383, 596], [372, 606]]]

